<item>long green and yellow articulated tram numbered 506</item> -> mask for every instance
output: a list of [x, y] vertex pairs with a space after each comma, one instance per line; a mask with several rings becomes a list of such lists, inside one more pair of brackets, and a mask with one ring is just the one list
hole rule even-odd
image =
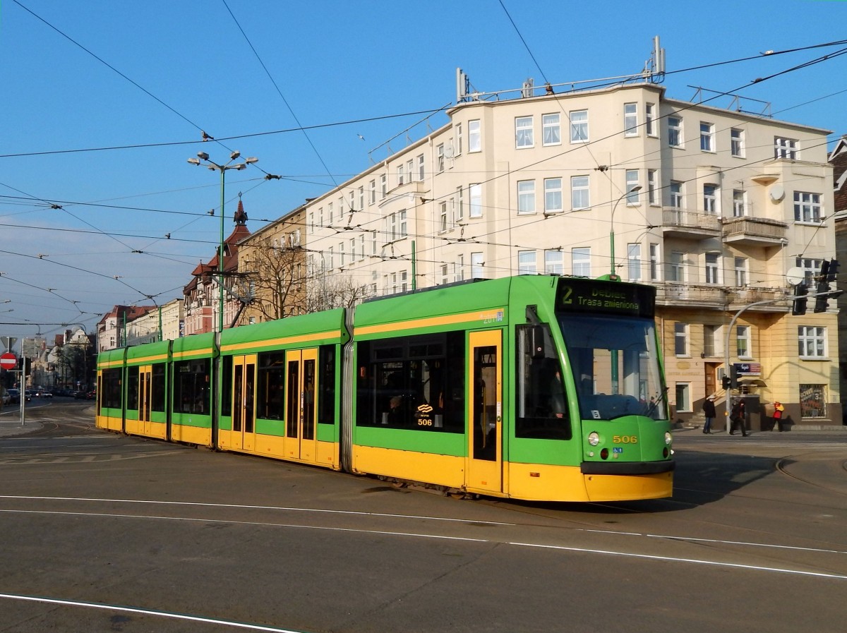
[[111, 350], [97, 426], [493, 497], [668, 497], [654, 306], [520, 276]]

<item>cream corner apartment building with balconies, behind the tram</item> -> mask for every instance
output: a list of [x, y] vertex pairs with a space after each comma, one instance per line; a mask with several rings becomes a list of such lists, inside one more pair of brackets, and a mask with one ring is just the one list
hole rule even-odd
[[754, 428], [775, 400], [789, 424], [840, 425], [834, 302], [795, 316], [784, 300], [786, 272], [835, 256], [828, 131], [646, 81], [518, 94], [462, 95], [448, 124], [307, 202], [310, 267], [373, 294], [541, 272], [651, 283], [676, 420], [725, 402], [729, 364]]

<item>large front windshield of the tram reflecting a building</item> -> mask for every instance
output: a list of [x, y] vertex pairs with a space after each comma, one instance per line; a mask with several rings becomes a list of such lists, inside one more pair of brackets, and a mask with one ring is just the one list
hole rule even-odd
[[656, 323], [641, 317], [559, 314], [584, 420], [667, 420]]

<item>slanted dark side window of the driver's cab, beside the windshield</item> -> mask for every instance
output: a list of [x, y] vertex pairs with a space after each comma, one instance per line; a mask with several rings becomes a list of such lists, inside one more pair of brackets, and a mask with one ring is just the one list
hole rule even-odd
[[516, 438], [570, 439], [572, 437], [562, 367], [556, 357], [550, 328], [515, 328], [518, 353], [515, 383], [518, 391]]

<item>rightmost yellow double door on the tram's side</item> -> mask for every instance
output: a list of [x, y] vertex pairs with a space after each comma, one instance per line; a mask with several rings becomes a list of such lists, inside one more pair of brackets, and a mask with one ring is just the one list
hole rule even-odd
[[318, 459], [318, 348], [285, 352], [285, 455]]

